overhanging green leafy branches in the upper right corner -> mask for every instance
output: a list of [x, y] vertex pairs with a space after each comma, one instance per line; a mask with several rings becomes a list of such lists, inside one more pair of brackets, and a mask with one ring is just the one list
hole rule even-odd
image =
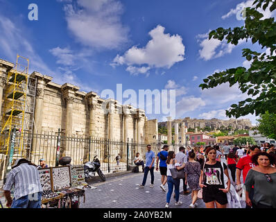
[[[238, 44], [240, 40], [259, 44], [263, 51], [243, 49], [243, 57], [252, 62], [249, 69], [236, 67], [216, 72], [208, 76], [200, 84], [202, 89], [214, 88], [223, 83], [232, 85], [238, 83], [241, 92], [248, 94], [248, 99], [231, 105], [226, 110], [227, 117], [245, 116], [247, 114], [264, 114], [266, 110], [275, 113], [276, 110], [276, 23], [274, 18], [261, 19], [263, 14], [258, 8], [272, 12], [276, 9], [276, 1], [256, 0], [252, 8], [246, 8], [245, 25], [235, 28], [217, 28], [209, 33], [209, 39], [227, 40], [228, 44]], [[252, 97], [255, 96], [254, 99]]]

